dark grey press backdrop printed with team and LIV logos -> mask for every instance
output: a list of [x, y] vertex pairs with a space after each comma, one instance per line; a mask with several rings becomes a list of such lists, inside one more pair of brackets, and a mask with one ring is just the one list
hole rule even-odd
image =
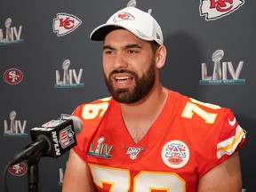
[[[31, 143], [30, 129], [107, 97], [102, 43], [92, 29], [128, 1], [18, 1], [0, 6], [0, 172]], [[243, 188], [255, 191], [256, 1], [138, 0], [158, 20], [168, 49], [164, 86], [232, 108], [247, 132], [240, 152]], [[68, 153], [39, 162], [40, 191], [61, 191]], [[7, 174], [10, 191], [27, 191], [28, 167]], [[1, 177], [0, 191], [4, 191]]]

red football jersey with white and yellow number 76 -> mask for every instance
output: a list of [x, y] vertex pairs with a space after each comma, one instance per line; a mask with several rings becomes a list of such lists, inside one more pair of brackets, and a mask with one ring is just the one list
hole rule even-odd
[[120, 103], [112, 98], [76, 108], [84, 122], [76, 154], [89, 164], [99, 191], [196, 192], [198, 180], [244, 144], [244, 130], [228, 108], [168, 90], [147, 134], [135, 143]]

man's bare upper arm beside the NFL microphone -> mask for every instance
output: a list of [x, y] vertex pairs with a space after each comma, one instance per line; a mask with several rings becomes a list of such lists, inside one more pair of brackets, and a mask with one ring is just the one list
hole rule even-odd
[[73, 150], [69, 152], [62, 187], [62, 192], [69, 191], [97, 191], [88, 165]]

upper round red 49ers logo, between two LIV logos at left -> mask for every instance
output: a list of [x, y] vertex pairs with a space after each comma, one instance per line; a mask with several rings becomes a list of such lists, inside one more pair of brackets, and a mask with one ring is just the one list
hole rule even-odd
[[19, 84], [23, 79], [23, 74], [18, 68], [10, 68], [4, 72], [4, 81], [7, 84]]

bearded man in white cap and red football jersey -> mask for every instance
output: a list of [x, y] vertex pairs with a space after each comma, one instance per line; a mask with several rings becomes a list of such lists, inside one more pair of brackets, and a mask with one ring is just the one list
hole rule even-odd
[[166, 49], [156, 20], [135, 7], [95, 28], [112, 97], [76, 108], [84, 122], [63, 192], [240, 192], [243, 129], [228, 108], [165, 88]]

